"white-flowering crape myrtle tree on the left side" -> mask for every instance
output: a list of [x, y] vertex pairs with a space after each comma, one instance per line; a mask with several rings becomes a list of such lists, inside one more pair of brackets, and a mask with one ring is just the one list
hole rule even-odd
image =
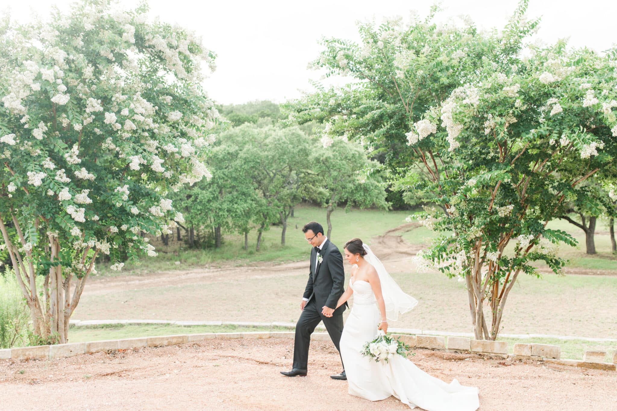
[[215, 56], [146, 12], [86, 1], [0, 23], [0, 230], [46, 341], [68, 340], [96, 257], [155, 256], [140, 233], [183, 222], [166, 194], [210, 175], [218, 113], [198, 84]]

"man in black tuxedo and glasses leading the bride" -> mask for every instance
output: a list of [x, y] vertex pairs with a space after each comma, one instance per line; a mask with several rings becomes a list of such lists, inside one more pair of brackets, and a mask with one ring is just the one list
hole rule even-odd
[[[320, 321], [326, 326], [328, 334], [339, 352], [339, 342], [343, 332], [344, 305], [336, 310], [336, 303], [344, 292], [345, 272], [341, 251], [328, 237], [323, 235], [323, 227], [318, 222], [307, 223], [303, 228], [304, 237], [313, 246], [310, 253], [310, 272], [307, 287], [300, 303], [300, 319], [296, 324], [294, 343], [294, 365], [291, 371], [281, 371], [286, 376], [306, 376], [309, 362], [310, 335]], [[326, 315], [332, 314], [331, 317]], [[345, 370], [331, 375], [335, 380], [347, 380]]]

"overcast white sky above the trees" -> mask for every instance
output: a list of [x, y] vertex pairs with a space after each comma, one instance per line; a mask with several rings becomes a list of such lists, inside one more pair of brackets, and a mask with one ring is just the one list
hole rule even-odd
[[[20, 0], [10, 5], [18, 20], [30, 10], [41, 15], [56, 4], [67, 9], [73, 0]], [[132, 1], [123, 1], [127, 6]], [[444, 18], [468, 14], [483, 28], [502, 28], [517, 0], [444, 0]], [[0, 1], [4, 9], [6, 2]], [[256, 99], [283, 102], [310, 90], [309, 79], [320, 74], [307, 63], [320, 52], [321, 36], [358, 39], [355, 22], [402, 15], [420, 15], [432, 4], [418, 0], [306, 0], [306, 1], [195, 1], [150, 0], [151, 16], [179, 23], [203, 36], [204, 45], [217, 52], [217, 71], [204, 82], [210, 97], [223, 104]], [[531, 0], [529, 17], [542, 16], [537, 37], [551, 43], [569, 37], [571, 46], [598, 51], [617, 43], [615, 0]]]

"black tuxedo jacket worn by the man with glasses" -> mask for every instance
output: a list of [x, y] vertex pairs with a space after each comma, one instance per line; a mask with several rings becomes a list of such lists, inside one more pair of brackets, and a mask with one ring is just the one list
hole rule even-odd
[[[343, 258], [341, 251], [330, 240], [321, 248], [321, 262], [315, 269], [317, 251], [315, 247], [310, 253], [310, 272], [307, 287], [304, 290], [304, 298], [315, 298], [317, 309], [321, 312], [321, 307], [336, 307], [339, 298], [345, 291], [345, 271], [343, 269]], [[307, 303], [309, 302], [307, 301]], [[342, 314], [347, 303], [338, 307], [334, 314]]]

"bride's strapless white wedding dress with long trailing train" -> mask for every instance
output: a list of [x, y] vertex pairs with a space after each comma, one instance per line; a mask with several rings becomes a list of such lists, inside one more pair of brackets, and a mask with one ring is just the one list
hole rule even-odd
[[427, 411], [478, 409], [478, 388], [462, 386], [457, 380], [446, 384], [398, 354], [387, 363], [360, 354], [366, 341], [375, 338], [381, 316], [370, 283], [352, 280], [349, 287], [354, 290], [354, 306], [341, 336], [341, 357], [349, 394], [370, 401], [395, 396], [412, 408]]

